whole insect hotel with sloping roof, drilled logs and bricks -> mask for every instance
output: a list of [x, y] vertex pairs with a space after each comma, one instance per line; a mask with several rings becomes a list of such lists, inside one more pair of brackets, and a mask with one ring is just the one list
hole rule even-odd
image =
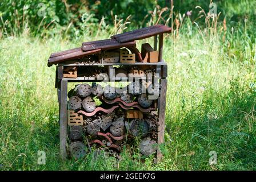
[[[83, 158], [93, 148], [120, 158], [123, 147], [137, 138], [141, 155], [161, 160], [167, 87], [163, 34], [170, 31], [157, 24], [50, 55], [48, 66], [57, 65], [62, 159]], [[150, 37], [154, 45], [137, 47], [136, 40]], [[68, 82], [77, 84], [68, 90]]]

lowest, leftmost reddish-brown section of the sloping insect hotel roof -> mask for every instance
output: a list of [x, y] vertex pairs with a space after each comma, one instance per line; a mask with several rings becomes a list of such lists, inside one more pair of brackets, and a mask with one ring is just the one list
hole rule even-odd
[[78, 52], [68, 53], [68, 54], [62, 55], [62, 56], [51, 57], [48, 60], [47, 65], [48, 65], [48, 67], [50, 67], [53, 64], [62, 63], [63, 61], [67, 61], [67, 60], [78, 59], [83, 56], [92, 55], [94, 53], [100, 53], [100, 52], [101, 52], [101, 49], [95, 49], [93, 51], [86, 51], [86, 52], [78, 51]]

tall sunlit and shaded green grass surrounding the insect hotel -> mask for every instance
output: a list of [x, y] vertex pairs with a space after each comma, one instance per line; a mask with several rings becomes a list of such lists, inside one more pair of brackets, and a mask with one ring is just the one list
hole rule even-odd
[[[233, 33], [230, 27], [222, 42], [219, 28], [205, 36], [186, 23], [178, 38], [168, 36], [164, 44], [169, 74], [166, 143], [158, 164], [152, 158], [142, 163], [136, 148], [123, 152], [119, 162], [90, 154], [62, 163], [55, 67], [48, 68], [47, 59], [51, 52], [94, 38], [69, 42], [23, 34], [1, 39], [0, 170], [255, 170], [254, 26], [245, 30], [238, 25]], [[46, 165], [37, 164], [38, 150], [46, 152]], [[213, 166], [210, 151], [217, 152]]]

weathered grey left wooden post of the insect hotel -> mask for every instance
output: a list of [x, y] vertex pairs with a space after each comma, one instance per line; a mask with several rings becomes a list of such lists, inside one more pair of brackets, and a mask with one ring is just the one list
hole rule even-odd
[[62, 160], [67, 157], [67, 78], [61, 80], [61, 103], [60, 103], [60, 122], [59, 122], [59, 149]]

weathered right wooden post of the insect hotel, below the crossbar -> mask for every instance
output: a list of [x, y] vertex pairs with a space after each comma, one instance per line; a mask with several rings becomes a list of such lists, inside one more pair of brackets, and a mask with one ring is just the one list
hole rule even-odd
[[[161, 79], [161, 93], [158, 105], [158, 145], [164, 142], [165, 135], [165, 106], [166, 106], [166, 90], [167, 90], [167, 80]], [[160, 162], [162, 159], [161, 151], [158, 147], [157, 149], [157, 161]]]

